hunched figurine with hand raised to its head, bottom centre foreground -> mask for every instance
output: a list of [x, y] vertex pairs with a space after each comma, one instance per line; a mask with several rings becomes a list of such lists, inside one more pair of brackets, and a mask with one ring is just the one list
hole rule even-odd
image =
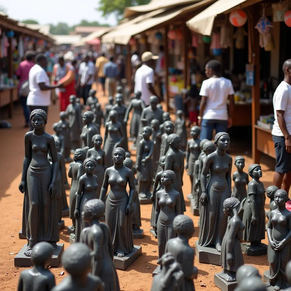
[[180, 291], [184, 283], [182, 266], [171, 253], [165, 253], [158, 260], [161, 271], [152, 279], [151, 291]]

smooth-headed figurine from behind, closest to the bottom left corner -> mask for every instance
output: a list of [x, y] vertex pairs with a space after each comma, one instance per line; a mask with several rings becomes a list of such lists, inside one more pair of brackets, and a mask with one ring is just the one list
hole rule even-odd
[[17, 291], [52, 290], [56, 285], [55, 277], [47, 267], [52, 260], [53, 251], [48, 242], [39, 242], [32, 248], [33, 268], [20, 273]]

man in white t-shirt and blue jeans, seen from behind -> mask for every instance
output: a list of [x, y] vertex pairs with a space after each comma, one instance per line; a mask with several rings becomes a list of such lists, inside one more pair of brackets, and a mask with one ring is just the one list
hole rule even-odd
[[[230, 80], [220, 77], [219, 61], [211, 60], [205, 66], [207, 80], [202, 82], [200, 93], [200, 111], [198, 125], [201, 127], [200, 140], [212, 139], [216, 133], [226, 132], [232, 126], [234, 109], [234, 90]], [[229, 99], [227, 111], [226, 100]]]

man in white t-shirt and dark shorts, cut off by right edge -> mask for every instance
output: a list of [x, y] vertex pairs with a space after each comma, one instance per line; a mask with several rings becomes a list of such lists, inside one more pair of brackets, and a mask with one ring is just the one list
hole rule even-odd
[[[291, 59], [284, 62], [283, 72], [284, 80], [273, 97], [275, 121], [272, 136], [276, 152], [274, 185], [288, 193], [291, 184]], [[286, 207], [291, 211], [290, 200]]]

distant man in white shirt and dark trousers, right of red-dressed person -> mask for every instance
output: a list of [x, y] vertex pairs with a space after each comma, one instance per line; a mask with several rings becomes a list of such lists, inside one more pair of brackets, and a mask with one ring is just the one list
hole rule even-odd
[[87, 54], [84, 56], [84, 62], [79, 66], [79, 78], [77, 82], [77, 88], [81, 87], [81, 95], [86, 104], [86, 100], [91, 90], [92, 84], [95, 81], [95, 65], [90, 61], [90, 56]]

